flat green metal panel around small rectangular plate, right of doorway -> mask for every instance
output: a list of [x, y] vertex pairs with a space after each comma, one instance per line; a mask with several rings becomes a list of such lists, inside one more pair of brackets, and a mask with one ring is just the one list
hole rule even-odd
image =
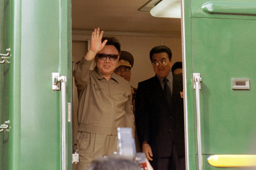
[[[256, 21], [192, 18], [192, 30], [199, 30], [192, 33], [192, 58], [203, 79], [203, 154], [255, 153]], [[231, 78], [248, 78], [251, 89], [232, 90]]]

